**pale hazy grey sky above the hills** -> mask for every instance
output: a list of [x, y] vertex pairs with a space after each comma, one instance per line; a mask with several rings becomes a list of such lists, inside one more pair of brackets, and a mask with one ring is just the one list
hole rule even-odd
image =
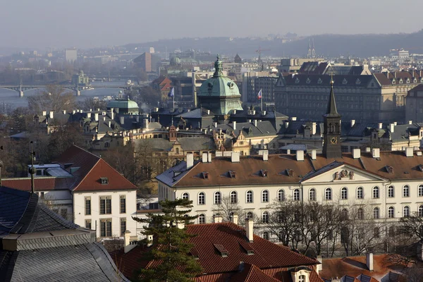
[[417, 0], [3, 0], [2, 47], [101, 47], [296, 32], [415, 32]]

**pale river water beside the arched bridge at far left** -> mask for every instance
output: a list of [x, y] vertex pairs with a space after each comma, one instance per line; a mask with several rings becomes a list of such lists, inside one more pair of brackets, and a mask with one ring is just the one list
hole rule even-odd
[[[116, 96], [121, 89], [114, 88], [117, 86], [124, 86], [125, 82], [122, 81], [111, 81], [111, 82], [91, 82], [92, 87], [94, 89], [91, 90], [83, 90], [81, 91], [81, 96], [76, 97], [76, 101], [84, 101], [87, 97], [99, 97], [99, 99], [102, 99], [102, 97], [105, 96]], [[109, 86], [111, 88], [95, 88], [99, 85], [101, 86]], [[8, 90], [1, 88], [0, 85], [0, 104], [6, 103], [10, 104], [13, 108], [17, 108], [18, 106], [27, 106], [27, 99], [26, 97], [30, 97], [32, 95], [37, 94], [37, 92], [42, 91], [42, 88], [39, 89], [32, 89], [27, 90], [24, 92], [24, 97], [19, 97], [19, 93], [13, 90]], [[73, 92], [72, 90], [69, 90]], [[76, 92], [73, 92], [76, 95]]]

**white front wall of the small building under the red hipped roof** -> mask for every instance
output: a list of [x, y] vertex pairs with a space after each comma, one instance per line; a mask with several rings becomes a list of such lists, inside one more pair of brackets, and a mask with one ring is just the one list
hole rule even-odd
[[[124, 195], [126, 200], [126, 212], [121, 214], [120, 196]], [[100, 197], [111, 196], [111, 214], [100, 214]], [[85, 197], [91, 197], [91, 214], [85, 214]], [[90, 191], [73, 193], [73, 222], [85, 227], [85, 220], [91, 220], [91, 228], [97, 229], [97, 237], [100, 238], [100, 220], [111, 219], [111, 235], [113, 237], [123, 237], [121, 235], [121, 219], [126, 220], [126, 230], [135, 236], [137, 222], [132, 219], [137, 213], [137, 193], [136, 190], [111, 190], [111, 191]], [[96, 226], [97, 222], [97, 226]]]

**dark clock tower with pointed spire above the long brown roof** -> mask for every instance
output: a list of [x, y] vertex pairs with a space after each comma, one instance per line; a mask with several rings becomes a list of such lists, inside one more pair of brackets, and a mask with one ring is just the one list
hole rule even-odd
[[336, 111], [333, 80], [331, 79], [331, 94], [324, 118], [323, 154], [326, 159], [342, 157], [341, 151], [341, 115]]

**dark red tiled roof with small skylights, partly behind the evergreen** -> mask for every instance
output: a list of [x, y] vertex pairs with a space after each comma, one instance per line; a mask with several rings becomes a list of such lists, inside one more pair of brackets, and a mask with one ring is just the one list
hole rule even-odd
[[[192, 253], [198, 257], [197, 262], [202, 266], [204, 272], [204, 275], [197, 278], [196, 281], [225, 281], [227, 277], [223, 274], [238, 273], [240, 262], [244, 262], [245, 265], [254, 265], [257, 269], [262, 269], [266, 276], [280, 281], [287, 281], [287, 278], [290, 281], [289, 268], [309, 266], [310, 269], [313, 269], [310, 273], [310, 282], [321, 282], [314, 271], [314, 265], [318, 264], [315, 259], [300, 255], [288, 247], [276, 245], [257, 235], [254, 235], [254, 241], [250, 243], [245, 236], [245, 230], [234, 223], [193, 224], [187, 226], [187, 232], [197, 235], [190, 238], [190, 243], [195, 246]], [[241, 244], [248, 245], [249, 249], [254, 250], [254, 255], [247, 255]], [[222, 245], [228, 251], [228, 256], [222, 257], [216, 251], [215, 245]], [[144, 253], [145, 250], [142, 250], [141, 247], [135, 247], [130, 252], [116, 257], [116, 264], [125, 276], [131, 277], [128, 274], [132, 274], [130, 273], [132, 269], [140, 269], [142, 265], [147, 265], [147, 268], [154, 267], [157, 264], [155, 261], [142, 262]], [[270, 269], [274, 269], [274, 271], [272, 272]], [[252, 271], [252, 278], [262, 275], [258, 274], [254, 268]]]

